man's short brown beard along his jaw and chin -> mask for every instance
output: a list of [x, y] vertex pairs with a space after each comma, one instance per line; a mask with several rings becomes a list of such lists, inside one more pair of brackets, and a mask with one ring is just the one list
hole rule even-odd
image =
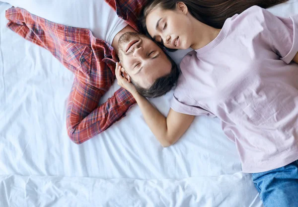
[[[123, 56], [126, 54], [126, 45], [132, 40], [141, 40], [142, 37], [146, 37], [144, 34], [137, 32], [125, 32], [118, 40], [118, 57], [120, 61], [123, 61]], [[146, 37], [147, 38], [147, 37]]]

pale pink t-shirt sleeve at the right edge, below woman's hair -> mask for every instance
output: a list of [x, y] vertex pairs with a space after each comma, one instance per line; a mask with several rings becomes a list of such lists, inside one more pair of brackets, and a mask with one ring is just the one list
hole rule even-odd
[[298, 52], [298, 15], [290, 17], [275, 16], [269, 11], [261, 9], [264, 17], [265, 38], [270, 38], [272, 50], [281, 60], [290, 63]]

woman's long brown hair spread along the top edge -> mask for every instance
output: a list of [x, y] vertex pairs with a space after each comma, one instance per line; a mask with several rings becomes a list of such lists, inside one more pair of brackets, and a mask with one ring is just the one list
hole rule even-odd
[[215, 28], [222, 28], [224, 21], [236, 13], [241, 13], [253, 5], [263, 8], [286, 2], [287, 0], [148, 0], [141, 12], [142, 29], [147, 33], [146, 17], [156, 6], [174, 10], [177, 2], [184, 2], [189, 12], [199, 21]]

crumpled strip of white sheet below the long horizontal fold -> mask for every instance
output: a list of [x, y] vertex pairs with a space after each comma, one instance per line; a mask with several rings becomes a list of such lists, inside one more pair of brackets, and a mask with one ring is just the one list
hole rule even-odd
[[182, 180], [10, 175], [0, 176], [0, 201], [5, 207], [260, 206], [258, 195], [249, 191], [252, 185], [249, 175], [240, 172]]

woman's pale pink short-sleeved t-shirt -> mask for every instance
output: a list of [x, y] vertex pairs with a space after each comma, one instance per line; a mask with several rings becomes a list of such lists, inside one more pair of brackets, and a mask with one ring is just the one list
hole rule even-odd
[[171, 108], [219, 117], [244, 172], [285, 166], [298, 159], [297, 52], [298, 15], [252, 6], [183, 58]]

